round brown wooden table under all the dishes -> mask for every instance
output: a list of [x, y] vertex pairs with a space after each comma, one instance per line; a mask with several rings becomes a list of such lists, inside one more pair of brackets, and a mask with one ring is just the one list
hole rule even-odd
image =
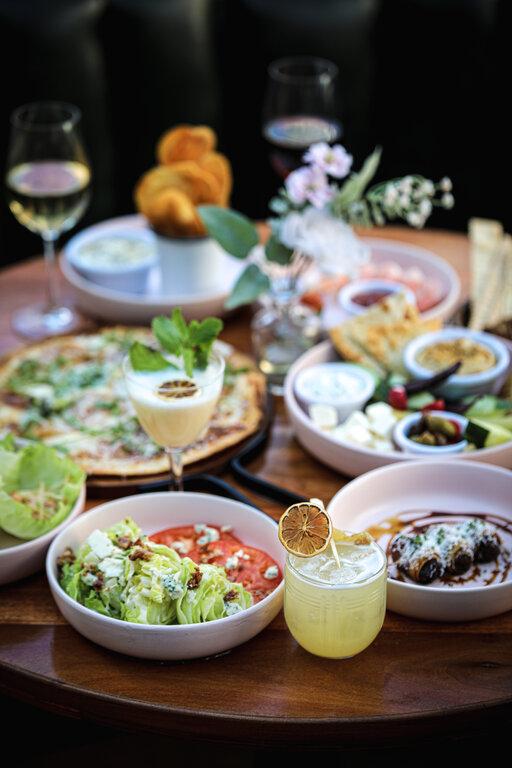
[[[444, 256], [468, 284], [468, 241], [446, 232], [388, 228], [379, 237]], [[0, 354], [19, 343], [9, 316], [40, 298], [41, 260], [0, 273]], [[227, 341], [249, 350], [249, 312]], [[347, 479], [295, 442], [281, 403], [252, 469], [326, 502]], [[249, 494], [250, 495], [250, 494]], [[273, 517], [277, 505], [252, 497]], [[89, 507], [99, 500], [89, 502]], [[512, 711], [512, 612], [468, 624], [434, 624], [388, 612], [364, 653], [346, 661], [303, 651], [282, 615], [218, 658], [155, 663], [109, 652], [57, 611], [43, 574], [0, 588], [0, 692], [72, 717], [146, 732], [258, 745], [369, 746], [467, 732]]]

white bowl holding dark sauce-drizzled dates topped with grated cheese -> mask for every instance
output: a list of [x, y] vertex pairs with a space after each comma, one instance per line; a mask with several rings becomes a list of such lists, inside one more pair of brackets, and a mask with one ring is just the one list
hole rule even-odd
[[[512, 472], [478, 462], [427, 459], [376, 469], [346, 485], [328, 511], [338, 528], [364, 530], [397, 512], [494, 513], [512, 520]], [[443, 588], [388, 579], [387, 606], [404, 616], [470, 621], [512, 609], [512, 581]]]

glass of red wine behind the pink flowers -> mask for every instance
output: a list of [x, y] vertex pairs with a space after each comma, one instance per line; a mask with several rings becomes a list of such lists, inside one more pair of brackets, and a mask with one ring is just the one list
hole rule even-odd
[[342, 127], [336, 118], [338, 67], [314, 56], [273, 61], [263, 107], [263, 136], [270, 164], [279, 178], [300, 165], [311, 144], [336, 142]]

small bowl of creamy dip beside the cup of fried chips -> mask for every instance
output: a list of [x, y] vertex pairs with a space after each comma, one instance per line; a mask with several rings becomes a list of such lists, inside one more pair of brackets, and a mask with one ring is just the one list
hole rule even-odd
[[143, 293], [158, 263], [152, 232], [99, 234], [83, 232], [64, 249], [72, 267], [92, 283], [129, 293]]

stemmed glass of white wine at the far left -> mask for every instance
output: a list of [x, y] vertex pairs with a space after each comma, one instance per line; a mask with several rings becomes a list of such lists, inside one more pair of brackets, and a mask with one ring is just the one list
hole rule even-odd
[[12, 316], [21, 336], [44, 338], [77, 327], [78, 315], [62, 306], [55, 243], [82, 217], [89, 203], [91, 171], [80, 139], [77, 107], [54, 101], [26, 104], [11, 115], [5, 185], [9, 208], [24, 227], [41, 235], [47, 300]]

